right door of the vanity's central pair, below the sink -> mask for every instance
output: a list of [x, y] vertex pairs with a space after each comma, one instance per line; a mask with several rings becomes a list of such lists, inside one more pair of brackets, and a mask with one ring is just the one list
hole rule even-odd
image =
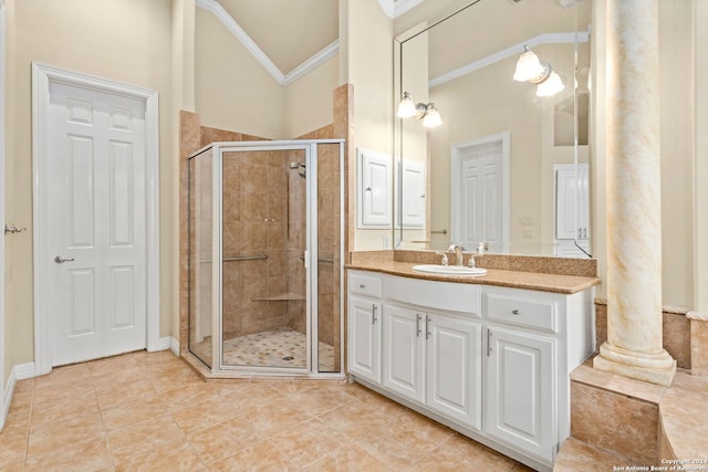
[[480, 429], [481, 326], [479, 323], [427, 315], [427, 406]]

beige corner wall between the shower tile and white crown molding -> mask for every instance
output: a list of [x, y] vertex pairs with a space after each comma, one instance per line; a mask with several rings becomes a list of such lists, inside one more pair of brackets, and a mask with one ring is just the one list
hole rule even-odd
[[281, 85], [209, 11], [197, 9], [195, 36], [195, 111], [204, 126], [291, 139], [333, 122], [339, 56]]

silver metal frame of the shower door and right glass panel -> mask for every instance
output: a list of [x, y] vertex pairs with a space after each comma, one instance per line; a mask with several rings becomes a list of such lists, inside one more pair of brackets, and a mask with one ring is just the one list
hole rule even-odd
[[[317, 297], [317, 145], [339, 145], [340, 148], [340, 371], [339, 373], [320, 373], [319, 371], [319, 297]], [[344, 139], [303, 139], [303, 140], [270, 140], [270, 141], [223, 141], [212, 143], [212, 261], [219, 261], [218, 264], [211, 264], [211, 371], [217, 373], [243, 373], [257, 374], [266, 373], [271, 376], [292, 376], [310, 375], [313, 377], [335, 377], [341, 378], [343, 374], [344, 363]], [[273, 367], [273, 366], [226, 366], [223, 365], [223, 234], [222, 234], [222, 165], [223, 153], [239, 151], [266, 151], [266, 150], [303, 150], [305, 153], [305, 168], [308, 176], [313, 178], [306, 180], [306, 230], [305, 230], [305, 338], [306, 338], [306, 363], [304, 368], [292, 367]], [[199, 153], [199, 151], [198, 151]], [[195, 153], [195, 154], [198, 154]], [[313, 268], [315, 270], [313, 270]], [[217, 343], [218, 340], [218, 343]], [[335, 346], [333, 346], [335, 347]]]

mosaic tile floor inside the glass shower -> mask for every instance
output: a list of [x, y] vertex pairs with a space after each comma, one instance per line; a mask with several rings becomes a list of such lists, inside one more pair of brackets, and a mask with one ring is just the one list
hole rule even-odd
[[[202, 353], [211, 352], [211, 340], [199, 344]], [[194, 348], [192, 348], [194, 352]], [[319, 343], [320, 371], [334, 371], [334, 348]], [[306, 337], [304, 334], [281, 327], [249, 334], [223, 342], [223, 364], [227, 366], [306, 367]]]

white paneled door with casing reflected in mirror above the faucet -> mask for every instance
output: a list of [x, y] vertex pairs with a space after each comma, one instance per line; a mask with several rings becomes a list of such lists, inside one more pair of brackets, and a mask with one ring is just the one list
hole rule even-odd
[[452, 145], [451, 238], [467, 250], [509, 249], [509, 143], [506, 132]]

